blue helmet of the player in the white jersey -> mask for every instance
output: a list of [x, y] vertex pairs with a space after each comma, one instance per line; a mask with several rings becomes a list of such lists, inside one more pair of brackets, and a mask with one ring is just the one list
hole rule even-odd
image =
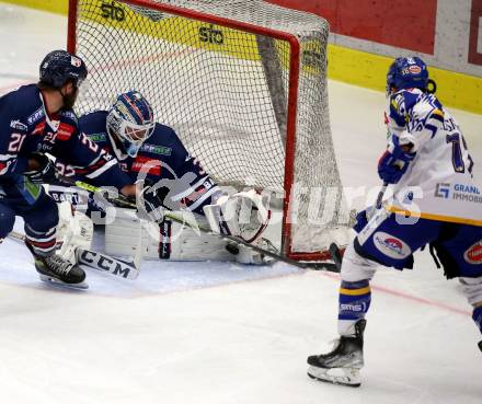
[[426, 91], [428, 81], [427, 65], [421, 58], [397, 58], [387, 73], [387, 94], [391, 93], [392, 88]]

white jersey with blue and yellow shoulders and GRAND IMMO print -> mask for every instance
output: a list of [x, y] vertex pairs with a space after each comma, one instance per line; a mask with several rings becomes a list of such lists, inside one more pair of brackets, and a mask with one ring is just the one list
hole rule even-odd
[[402, 90], [386, 113], [389, 147], [413, 145], [414, 160], [393, 186], [392, 211], [425, 219], [482, 226], [482, 188], [473, 178], [473, 160], [460, 126], [433, 95]]

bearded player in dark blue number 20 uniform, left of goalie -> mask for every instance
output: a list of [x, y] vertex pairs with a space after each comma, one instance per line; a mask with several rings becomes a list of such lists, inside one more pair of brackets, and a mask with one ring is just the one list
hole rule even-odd
[[79, 57], [55, 50], [42, 61], [37, 84], [0, 97], [0, 242], [15, 216], [22, 217], [41, 278], [74, 287], [84, 286], [85, 274], [55, 254], [58, 209], [42, 183], [55, 181], [57, 173], [45, 153], [62, 155], [92, 183], [135, 192], [116, 160], [79, 131], [72, 106], [87, 74]]

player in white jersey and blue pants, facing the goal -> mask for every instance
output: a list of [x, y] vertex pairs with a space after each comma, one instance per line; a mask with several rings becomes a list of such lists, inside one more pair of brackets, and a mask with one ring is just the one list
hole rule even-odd
[[420, 58], [393, 61], [387, 76], [389, 141], [378, 174], [392, 184], [394, 198], [357, 216], [358, 234], [342, 263], [340, 338], [331, 353], [308, 358], [313, 379], [360, 385], [370, 279], [380, 264], [411, 268], [412, 254], [426, 244], [445, 276], [459, 278], [482, 333], [480, 188], [460, 127], [428, 88], [427, 67]]

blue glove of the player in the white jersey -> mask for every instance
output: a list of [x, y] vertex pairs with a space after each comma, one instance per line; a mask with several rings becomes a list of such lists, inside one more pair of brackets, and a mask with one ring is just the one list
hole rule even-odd
[[415, 153], [406, 151], [408, 146], [400, 146], [399, 138], [392, 136], [392, 143], [378, 161], [378, 176], [388, 184], [397, 184], [409, 169]]

